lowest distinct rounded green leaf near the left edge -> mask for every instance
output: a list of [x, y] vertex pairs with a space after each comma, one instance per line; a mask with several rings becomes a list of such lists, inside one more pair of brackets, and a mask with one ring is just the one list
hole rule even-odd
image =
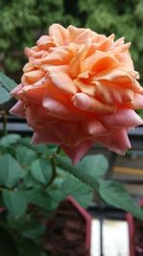
[[3, 190], [3, 199], [12, 216], [19, 217], [26, 212], [27, 200], [23, 191]]

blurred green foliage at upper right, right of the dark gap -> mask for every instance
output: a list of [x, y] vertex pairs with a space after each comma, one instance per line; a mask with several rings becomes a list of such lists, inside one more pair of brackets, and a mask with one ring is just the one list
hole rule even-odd
[[79, 11], [86, 16], [83, 26], [90, 27], [99, 34], [115, 37], [124, 36], [132, 42], [131, 53], [135, 68], [140, 72], [143, 64], [143, 2], [142, 0], [79, 0]]

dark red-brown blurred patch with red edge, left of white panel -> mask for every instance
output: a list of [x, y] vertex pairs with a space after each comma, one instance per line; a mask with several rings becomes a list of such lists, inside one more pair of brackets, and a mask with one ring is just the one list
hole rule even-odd
[[51, 256], [90, 256], [92, 217], [74, 198], [63, 200], [46, 226], [43, 244]]

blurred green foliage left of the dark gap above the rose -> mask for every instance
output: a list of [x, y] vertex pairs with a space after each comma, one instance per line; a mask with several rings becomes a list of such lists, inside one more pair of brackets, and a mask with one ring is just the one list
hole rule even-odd
[[72, 23], [72, 18], [64, 13], [63, 0], [1, 0], [0, 17], [0, 68], [18, 79], [26, 61], [24, 47], [32, 46], [53, 22]]

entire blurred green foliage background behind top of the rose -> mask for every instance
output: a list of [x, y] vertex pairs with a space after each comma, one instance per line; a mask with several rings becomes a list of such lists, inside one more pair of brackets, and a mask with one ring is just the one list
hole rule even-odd
[[142, 0], [0, 0], [0, 71], [19, 82], [24, 47], [34, 45], [54, 22], [125, 36], [143, 81]]

